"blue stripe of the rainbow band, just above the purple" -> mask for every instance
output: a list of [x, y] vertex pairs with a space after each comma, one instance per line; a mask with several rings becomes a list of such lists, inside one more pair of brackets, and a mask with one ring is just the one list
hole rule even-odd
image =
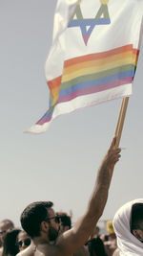
[[133, 77], [134, 75], [134, 71], [130, 70], [130, 71], [125, 71], [125, 72], [121, 72], [118, 74], [114, 74], [110, 77], [106, 77], [103, 79], [98, 79], [95, 81], [83, 81], [83, 82], [79, 82], [76, 83], [75, 85], [72, 85], [72, 87], [66, 88], [66, 89], [61, 89], [59, 92], [59, 97], [61, 96], [65, 96], [65, 95], [69, 95], [74, 91], [80, 90], [80, 89], [84, 89], [84, 88], [88, 88], [88, 87], [92, 87], [92, 86], [98, 86], [110, 81], [117, 81], [120, 79], [126, 79], [126, 78], [130, 78]]

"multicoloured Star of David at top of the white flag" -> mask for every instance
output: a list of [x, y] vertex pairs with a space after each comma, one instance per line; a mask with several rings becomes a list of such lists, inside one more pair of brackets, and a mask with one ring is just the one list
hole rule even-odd
[[[77, 18], [73, 19], [75, 15]], [[95, 15], [95, 18], [90, 18], [90, 19], [83, 18], [80, 5], [78, 5], [75, 9], [74, 14], [72, 15], [72, 20], [70, 21], [68, 27], [69, 28], [80, 27], [83, 40], [85, 42], [85, 45], [87, 45], [95, 26], [108, 25], [110, 23], [111, 23], [111, 19], [110, 19], [107, 5], [101, 4], [99, 11]]]

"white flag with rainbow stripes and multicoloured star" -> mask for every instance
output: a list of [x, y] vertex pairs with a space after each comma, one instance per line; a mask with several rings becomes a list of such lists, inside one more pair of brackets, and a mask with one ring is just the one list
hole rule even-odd
[[142, 16], [142, 0], [58, 0], [45, 65], [49, 110], [29, 132], [43, 132], [75, 109], [132, 94]]

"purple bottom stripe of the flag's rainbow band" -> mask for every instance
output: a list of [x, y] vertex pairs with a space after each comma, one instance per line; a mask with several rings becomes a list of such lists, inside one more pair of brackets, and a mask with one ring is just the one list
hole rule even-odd
[[71, 101], [72, 99], [74, 99], [78, 96], [82, 96], [82, 95], [86, 95], [86, 94], [92, 94], [92, 93], [100, 92], [100, 91], [103, 91], [103, 90], [108, 90], [108, 89], [111, 89], [113, 87], [117, 87], [117, 86], [120, 86], [120, 85], [123, 85], [123, 84], [126, 84], [126, 83], [131, 83], [132, 81], [133, 81], [133, 77], [126, 78], [126, 79], [121, 79], [121, 80], [117, 80], [117, 81], [112, 81], [112, 82], [107, 82], [105, 84], [102, 84], [102, 85], [99, 85], [99, 86], [93, 86], [91, 88], [83, 88], [81, 90], [72, 92], [69, 95], [61, 96], [58, 99], [58, 104], [64, 103], [64, 102], [69, 102], [69, 101]]

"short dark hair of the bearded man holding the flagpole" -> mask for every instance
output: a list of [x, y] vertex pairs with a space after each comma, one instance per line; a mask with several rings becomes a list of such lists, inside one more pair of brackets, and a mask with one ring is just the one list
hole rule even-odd
[[32, 202], [21, 214], [21, 225], [31, 238], [40, 236], [40, 224], [49, 217], [47, 209], [52, 205], [51, 201]]

